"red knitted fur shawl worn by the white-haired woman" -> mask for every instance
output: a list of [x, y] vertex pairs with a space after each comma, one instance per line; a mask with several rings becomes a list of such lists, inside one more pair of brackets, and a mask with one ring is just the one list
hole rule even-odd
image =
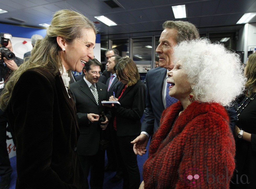
[[145, 189], [229, 188], [235, 141], [225, 108], [193, 102], [177, 118], [182, 109], [177, 102], [162, 114], [143, 166]]

